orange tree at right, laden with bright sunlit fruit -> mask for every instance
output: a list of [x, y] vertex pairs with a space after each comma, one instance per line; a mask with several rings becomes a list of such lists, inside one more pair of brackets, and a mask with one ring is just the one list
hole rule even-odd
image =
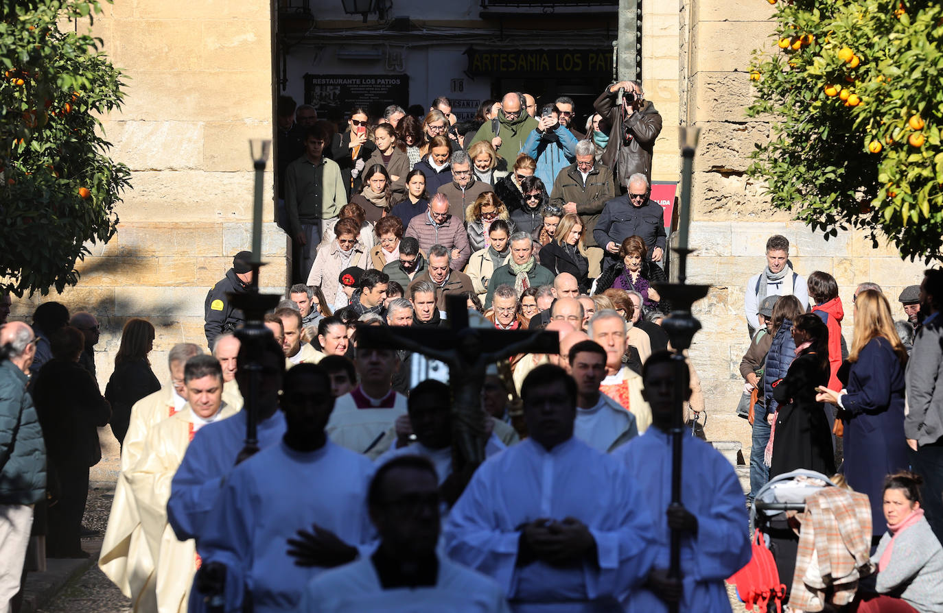
[[779, 0], [775, 21], [750, 73], [748, 115], [772, 125], [750, 174], [813, 228], [941, 257], [939, 0]]

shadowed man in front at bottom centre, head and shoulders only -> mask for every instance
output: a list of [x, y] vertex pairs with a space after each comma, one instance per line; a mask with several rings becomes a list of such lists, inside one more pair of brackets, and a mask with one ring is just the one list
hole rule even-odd
[[429, 460], [419, 456], [400, 456], [382, 465], [368, 499], [379, 546], [372, 556], [308, 582], [299, 613], [508, 611], [493, 579], [438, 555], [438, 480]]

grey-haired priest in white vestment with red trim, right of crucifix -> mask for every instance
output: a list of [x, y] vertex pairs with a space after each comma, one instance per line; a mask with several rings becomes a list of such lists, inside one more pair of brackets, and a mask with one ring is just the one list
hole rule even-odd
[[587, 324], [587, 335], [605, 349], [605, 379], [599, 389], [626, 411], [636, 416], [638, 433], [652, 423], [652, 409], [642, 397], [642, 378], [622, 363], [629, 347], [630, 324], [612, 309], [593, 315]]

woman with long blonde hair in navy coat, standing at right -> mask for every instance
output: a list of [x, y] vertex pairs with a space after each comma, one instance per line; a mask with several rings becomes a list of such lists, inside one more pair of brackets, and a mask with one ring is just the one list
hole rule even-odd
[[[854, 299], [851, 368], [838, 373], [842, 390], [819, 386], [816, 400], [838, 407], [845, 425], [845, 478], [855, 492], [867, 493], [871, 516], [881, 517], [884, 476], [909, 464], [904, 417], [907, 351], [894, 328], [884, 294], [866, 289]], [[884, 530], [873, 523], [875, 536]]]

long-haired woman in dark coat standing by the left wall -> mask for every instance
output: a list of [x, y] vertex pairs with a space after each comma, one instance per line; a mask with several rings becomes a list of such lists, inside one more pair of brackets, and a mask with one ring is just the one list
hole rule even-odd
[[133, 317], [124, 324], [121, 345], [115, 354], [115, 370], [108, 379], [105, 398], [111, 403], [111, 431], [119, 444], [131, 419], [131, 407], [145, 395], [160, 389], [147, 354], [154, 349], [154, 326]]

